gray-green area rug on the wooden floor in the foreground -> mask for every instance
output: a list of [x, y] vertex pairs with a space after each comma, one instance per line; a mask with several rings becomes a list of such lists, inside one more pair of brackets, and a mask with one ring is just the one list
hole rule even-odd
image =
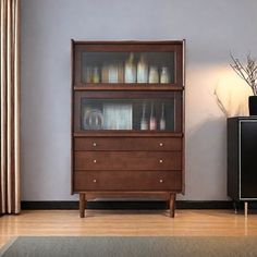
[[257, 256], [257, 236], [20, 236], [2, 257]]

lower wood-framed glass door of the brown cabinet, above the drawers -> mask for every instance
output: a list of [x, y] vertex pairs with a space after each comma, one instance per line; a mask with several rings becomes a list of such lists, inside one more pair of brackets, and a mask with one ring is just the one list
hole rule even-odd
[[181, 132], [181, 93], [122, 95], [76, 93], [75, 131]]

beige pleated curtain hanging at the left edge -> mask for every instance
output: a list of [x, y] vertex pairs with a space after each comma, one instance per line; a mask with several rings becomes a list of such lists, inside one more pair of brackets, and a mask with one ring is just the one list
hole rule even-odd
[[0, 213], [20, 204], [20, 0], [0, 0], [1, 176]]

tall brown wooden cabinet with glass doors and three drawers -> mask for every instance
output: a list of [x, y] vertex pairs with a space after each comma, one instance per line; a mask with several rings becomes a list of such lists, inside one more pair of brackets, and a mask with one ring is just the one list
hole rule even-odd
[[184, 193], [185, 41], [72, 40], [72, 193]]

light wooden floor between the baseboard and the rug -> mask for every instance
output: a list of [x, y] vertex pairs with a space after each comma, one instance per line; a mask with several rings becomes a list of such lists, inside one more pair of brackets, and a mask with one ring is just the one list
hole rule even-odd
[[257, 235], [257, 213], [232, 210], [30, 210], [0, 218], [0, 247], [19, 235]]

